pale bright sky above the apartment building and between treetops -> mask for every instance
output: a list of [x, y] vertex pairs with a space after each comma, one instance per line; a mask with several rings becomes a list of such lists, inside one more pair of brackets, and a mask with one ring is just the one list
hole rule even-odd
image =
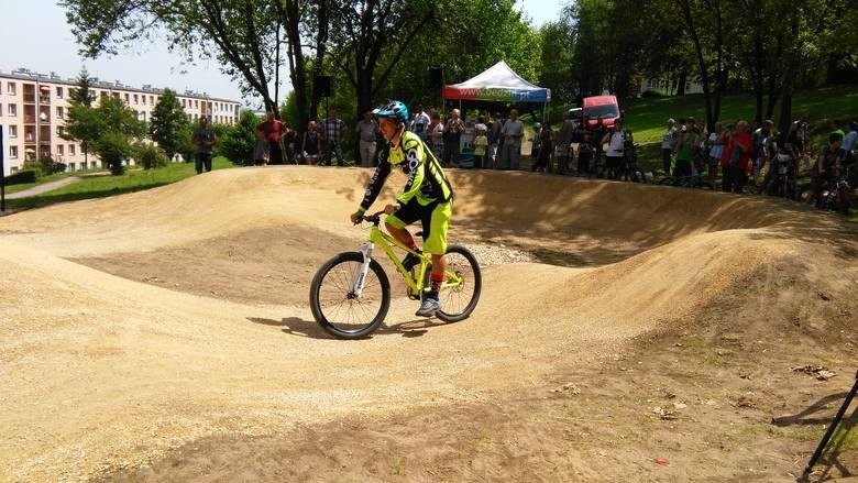
[[[562, 6], [570, 0], [517, 0], [517, 7], [535, 25], [558, 18]], [[65, 9], [57, 0], [0, 0], [0, 72], [9, 74], [28, 68], [40, 74], [52, 72], [59, 77], [76, 78], [82, 67], [90, 76], [132, 87], [152, 85], [169, 87], [178, 92], [195, 90], [215, 98], [242, 101], [257, 107], [257, 99], [242, 99], [238, 83], [219, 69], [216, 61], [197, 61], [187, 65], [180, 54], [169, 53], [165, 42], [139, 44], [117, 56], [98, 59], [82, 58], [66, 23]], [[282, 77], [286, 75], [282, 72]], [[272, 92], [274, 86], [271, 86]], [[280, 98], [289, 90], [280, 85]]]

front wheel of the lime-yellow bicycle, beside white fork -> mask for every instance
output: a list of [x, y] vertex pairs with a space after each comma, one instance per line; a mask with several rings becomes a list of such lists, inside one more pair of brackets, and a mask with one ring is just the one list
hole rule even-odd
[[391, 281], [375, 260], [370, 262], [361, 297], [350, 294], [351, 281], [362, 265], [361, 252], [340, 253], [319, 267], [310, 284], [312, 317], [338, 339], [369, 336], [382, 325], [391, 308]]

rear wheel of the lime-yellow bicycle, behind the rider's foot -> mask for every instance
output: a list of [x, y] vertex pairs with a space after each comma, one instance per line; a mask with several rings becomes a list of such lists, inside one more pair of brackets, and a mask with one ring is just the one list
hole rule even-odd
[[447, 272], [462, 277], [462, 285], [441, 288], [438, 295], [442, 309], [435, 316], [444, 322], [458, 322], [470, 317], [476, 308], [483, 289], [483, 275], [476, 256], [462, 245], [447, 248]]

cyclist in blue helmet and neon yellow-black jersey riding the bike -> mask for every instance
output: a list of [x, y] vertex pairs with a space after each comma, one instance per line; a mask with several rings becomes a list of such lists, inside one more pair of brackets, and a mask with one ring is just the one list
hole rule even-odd
[[[372, 111], [378, 121], [378, 129], [387, 140], [389, 154], [386, 161], [381, 161], [366, 187], [366, 194], [351, 221], [359, 223], [361, 217], [382, 191], [384, 182], [394, 166], [408, 176], [403, 194], [396, 201], [384, 207], [387, 213], [385, 227], [387, 231], [411, 250], [418, 251], [414, 237], [405, 228], [420, 220], [424, 226], [422, 250], [431, 255], [432, 273], [430, 292], [424, 297], [418, 317], [431, 317], [441, 308], [438, 290], [443, 282], [447, 268], [447, 230], [452, 216], [453, 190], [444, 176], [441, 163], [420, 138], [406, 130], [408, 108], [398, 100], [393, 100]], [[403, 260], [406, 270], [414, 268], [420, 260], [408, 254]]]

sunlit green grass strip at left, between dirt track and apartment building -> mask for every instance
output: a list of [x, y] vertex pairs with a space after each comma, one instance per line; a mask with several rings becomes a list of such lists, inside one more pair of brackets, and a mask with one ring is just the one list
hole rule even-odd
[[[223, 156], [218, 156], [213, 160], [212, 169], [224, 169], [230, 167], [235, 167], [235, 165]], [[53, 205], [55, 202], [74, 201], [78, 199], [103, 198], [107, 196], [140, 191], [143, 189], [168, 185], [196, 174], [197, 173], [194, 168], [194, 163], [170, 163], [160, 169], [142, 169], [132, 167], [128, 169], [122, 176], [110, 176], [101, 174], [81, 175], [81, 180], [78, 183], [74, 183], [72, 185], [57, 188], [53, 191], [29, 198], [9, 199], [7, 200], [7, 205], [12, 209], [25, 209], [38, 208], [46, 205]], [[62, 176], [68, 175], [61, 175], [61, 177]], [[44, 183], [45, 180], [52, 180], [51, 178], [52, 177], [40, 179], [40, 183], [36, 184]], [[34, 185], [35, 184], [22, 186], [30, 187]]]

